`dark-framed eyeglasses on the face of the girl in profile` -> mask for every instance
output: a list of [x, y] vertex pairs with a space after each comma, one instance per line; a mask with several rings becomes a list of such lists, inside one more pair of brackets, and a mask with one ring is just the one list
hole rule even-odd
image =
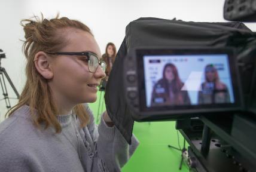
[[69, 55], [69, 56], [86, 56], [88, 60], [88, 69], [90, 72], [95, 73], [97, 70], [97, 66], [100, 66], [103, 72], [106, 71], [106, 63], [99, 62], [97, 55], [91, 52], [56, 52], [51, 53], [47, 52], [47, 54], [53, 55]]

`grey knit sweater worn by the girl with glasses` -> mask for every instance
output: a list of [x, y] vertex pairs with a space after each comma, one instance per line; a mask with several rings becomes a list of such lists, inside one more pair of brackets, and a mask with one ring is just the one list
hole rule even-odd
[[58, 115], [62, 132], [35, 127], [29, 106], [22, 106], [0, 124], [0, 171], [121, 171], [138, 146], [128, 145], [115, 127], [103, 119], [95, 125], [92, 111], [87, 127], [75, 115]]

